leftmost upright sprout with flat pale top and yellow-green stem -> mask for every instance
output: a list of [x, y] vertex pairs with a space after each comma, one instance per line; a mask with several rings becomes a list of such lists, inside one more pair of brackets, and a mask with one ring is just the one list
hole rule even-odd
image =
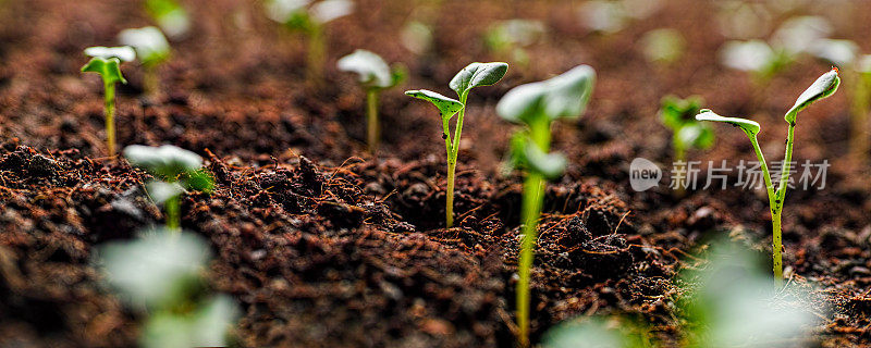
[[115, 156], [115, 83], [126, 84], [121, 75], [121, 62], [136, 59], [136, 52], [127, 47], [88, 47], [85, 54], [90, 61], [82, 66], [83, 73], [97, 73], [102, 77], [103, 99], [106, 102], [106, 148], [110, 157]]

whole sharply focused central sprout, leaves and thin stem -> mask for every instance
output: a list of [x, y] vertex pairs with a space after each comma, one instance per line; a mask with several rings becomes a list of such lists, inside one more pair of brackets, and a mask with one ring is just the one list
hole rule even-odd
[[[447, 151], [447, 199], [445, 206], [445, 223], [447, 227], [454, 225], [454, 176], [456, 173], [456, 159], [459, 154], [459, 140], [463, 134], [463, 119], [466, 113], [466, 100], [469, 91], [475, 87], [491, 86], [502, 79], [508, 71], [508, 64], [502, 62], [471, 63], [451, 79], [449, 86], [459, 97], [451, 99], [434, 91], [420, 89], [407, 90], [406, 95], [432, 102], [439, 109], [442, 119], [442, 137]], [[454, 134], [451, 136], [450, 121], [457, 114]]]

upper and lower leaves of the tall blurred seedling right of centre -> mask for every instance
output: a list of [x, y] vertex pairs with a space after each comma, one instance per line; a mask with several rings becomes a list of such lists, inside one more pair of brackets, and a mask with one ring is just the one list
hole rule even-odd
[[589, 65], [579, 65], [556, 77], [515, 87], [502, 97], [496, 113], [529, 127], [512, 138], [512, 166], [525, 166], [551, 179], [563, 173], [565, 157], [544, 152], [532, 141], [530, 133], [549, 133], [553, 121], [578, 117], [587, 108], [594, 82], [596, 71]]

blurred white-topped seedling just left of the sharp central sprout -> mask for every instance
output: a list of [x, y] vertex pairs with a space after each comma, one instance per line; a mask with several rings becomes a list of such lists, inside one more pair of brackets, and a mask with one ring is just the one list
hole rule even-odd
[[393, 70], [380, 55], [367, 50], [356, 50], [336, 62], [339, 70], [356, 73], [366, 90], [366, 139], [369, 152], [376, 156], [379, 142], [378, 97], [385, 88], [402, 83], [407, 74], [405, 67], [394, 65]]

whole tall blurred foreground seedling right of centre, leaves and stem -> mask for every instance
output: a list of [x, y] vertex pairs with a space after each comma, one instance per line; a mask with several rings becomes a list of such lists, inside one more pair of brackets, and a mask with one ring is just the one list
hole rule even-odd
[[551, 79], [515, 87], [496, 104], [502, 119], [525, 125], [512, 139], [512, 161], [526, 169], [520, 221], [524, 224], [517, 264], [517, 326], [520, 345], [529, 346], [529, 276], [532, 268], [538, 220], [544, 202], [544, 179], [562, 175], [566, 164], [559, 153], [549, 153], [551, 124], [576, 119], [587, 107], [596, 72], [576, 66]]

